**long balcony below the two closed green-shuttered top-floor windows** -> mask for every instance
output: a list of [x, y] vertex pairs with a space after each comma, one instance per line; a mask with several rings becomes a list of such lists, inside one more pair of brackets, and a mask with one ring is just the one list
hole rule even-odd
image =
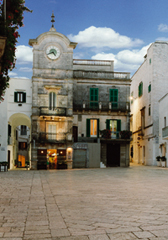
[[73, 103], [73, 111], [130, 111], [129, 102], [94, 102], [78, 101]]

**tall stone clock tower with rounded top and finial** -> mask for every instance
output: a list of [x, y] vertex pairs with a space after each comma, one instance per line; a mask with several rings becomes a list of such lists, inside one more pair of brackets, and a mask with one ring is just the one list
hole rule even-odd
[[[54, 21], [54, 14], [52, 20]], [[77, 43], [49, 32], [33, 47], [31, 169], [72, 168], [73, 49]]]

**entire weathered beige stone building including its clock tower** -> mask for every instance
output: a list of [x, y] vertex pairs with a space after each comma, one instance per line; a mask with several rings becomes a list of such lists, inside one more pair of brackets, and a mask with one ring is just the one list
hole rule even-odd
[[29, 44], [32, 169], [128, 166], [130, 140], [120, 132], [129, 130], [129, 73], [114, 72], [113, 61], [73, 59], [77, 43], [53, 26]]

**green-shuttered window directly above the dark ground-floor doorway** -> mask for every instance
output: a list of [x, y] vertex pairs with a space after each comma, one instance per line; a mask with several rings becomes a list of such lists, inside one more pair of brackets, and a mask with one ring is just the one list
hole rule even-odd
[[121, 120], [120, 119], [107, 119], [106, 120], [106, 129], [110, 129], [111, 138], [119, 138], [119, 133], [121, 131]]

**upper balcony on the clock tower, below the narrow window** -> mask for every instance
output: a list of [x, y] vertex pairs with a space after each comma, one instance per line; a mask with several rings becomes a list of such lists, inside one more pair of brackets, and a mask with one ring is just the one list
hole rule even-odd
[[60, 107], [40, 107], [40, 116], [67, 116], [67, 109]]

